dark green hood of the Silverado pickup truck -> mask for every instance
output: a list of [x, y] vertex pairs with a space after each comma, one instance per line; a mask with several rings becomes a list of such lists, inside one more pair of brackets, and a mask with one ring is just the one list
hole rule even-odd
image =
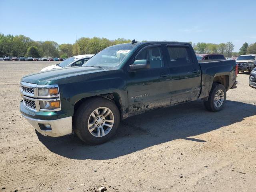
[[61, 78], [68, 78], [71, 76], [78, 76], [83, 74], [90, 74], [104, 71], [104, 68], [94, 67], [65, 67], [60, 69], [46, 70], [42, 72], [32, 73], [22, 77], [21, 81], [26, 83], [34, 83], [37, 85], [46, 85], [52, 80]]

